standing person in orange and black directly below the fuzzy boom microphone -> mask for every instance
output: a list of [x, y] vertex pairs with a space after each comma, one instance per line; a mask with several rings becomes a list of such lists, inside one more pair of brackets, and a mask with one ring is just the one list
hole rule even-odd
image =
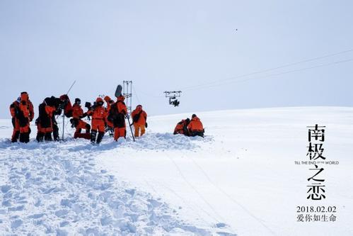
[[118, 96], [117, 101], [112, 104], [108, 115], [108, 120], [114, 125], [115, 141], [117, 141], [119, 137], [126, 138], [125, 116], [127, 115], [127, 107], [124, 100], [124, 96]]

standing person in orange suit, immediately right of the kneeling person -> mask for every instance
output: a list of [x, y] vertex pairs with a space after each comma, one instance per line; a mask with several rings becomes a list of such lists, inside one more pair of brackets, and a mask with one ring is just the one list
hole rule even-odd
[[[93, 105], [90, 111], [87, 112], [88, 116], [92, 116], [92, 130], [91, 130], [91, 143], [99, 144], [102, 141], [105, 133], [105, 118], [107, 116], [105, 108], [103, 107], [104, 101], [101, 98], [96, 99], [96, 104]], [[96, 140], [98, 131], [98, 137]]]

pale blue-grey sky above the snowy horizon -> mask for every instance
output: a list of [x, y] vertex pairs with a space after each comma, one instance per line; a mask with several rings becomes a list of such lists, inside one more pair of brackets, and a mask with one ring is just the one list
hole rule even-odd
[[[46, 96], [74, 80], [69, 96], [83, 103], [132, 80], [133, 105], [149, 115], [352, 106], [353, 61], [342, 61], [353, 51], [239, 77], [353, 50], [352, 9], [348, 0], [0, 0], [0, 118], [21, 91], [37, 116]], [[305, 69], [322, 64], [330, 65]], [[178, 89], [174, 108], [163, 91]]]

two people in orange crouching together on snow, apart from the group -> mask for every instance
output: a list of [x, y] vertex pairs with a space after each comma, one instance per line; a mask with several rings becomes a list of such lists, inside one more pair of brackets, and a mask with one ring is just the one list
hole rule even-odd
[[201, 120], [195, 115], [192, 114], [191, 120], [186, 118], [181, 120], [174, 129], [174, 134], [181, 134], [185, 136], [201, 136], [204, 137], [204, 126], [202, 125]]

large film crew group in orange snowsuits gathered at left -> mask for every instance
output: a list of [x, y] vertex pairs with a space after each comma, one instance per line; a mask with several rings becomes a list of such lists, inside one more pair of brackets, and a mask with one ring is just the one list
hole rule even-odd
[[[104, 101], [107, 107], [103, 106]], [[70, 119], [71, 126], [76, 128], [74, 138], [84, 138], [91, 140], [92, 143], [100, 143], [105, 130], [114, 132], [114, 140], [119, 137], [126, 137], [125, 116], [127, 116], [127, 107], [125, 105], [125, 97], [117, 96], [117, 101], [114, 102], [109, 96], [103, 99], [97, 98], [96, 102], [91, 106], [91, 103], [86, 103], [88, 111], [83, 113], [81, 108], [81, 100], [75, 99], [75, 103], [71, 106], [69, 97], [64, 94], [59, 98], [51, 96], [47, 97], [38, 106], [39, 115], [35, 120], [37, 125], [38, 142], [59, 140], [59, 127], [57, 125], [56, 116], [59, 116], [64, 111], [64, 116]], [[11, 103], [10, 112], [13, 123], [12, 142], [29, 142], [30, 137], [30, 121], [34, 118], [33, 104], [28, 98], [27, 92], [22, 92], [21, 96], [16, 101]], [[141, 119], [137, 120], [137, 127], [141, 128], [141, 134], [144, 133], [142, 124], [146, 122], [146, 113], [142, 114]], [[82, 120], [84, 117], [91, 117], [91, 125]], [[144, 120], [144, 121], [141, 121]], [[85, 130], [82, 133], [82, 130]]]

